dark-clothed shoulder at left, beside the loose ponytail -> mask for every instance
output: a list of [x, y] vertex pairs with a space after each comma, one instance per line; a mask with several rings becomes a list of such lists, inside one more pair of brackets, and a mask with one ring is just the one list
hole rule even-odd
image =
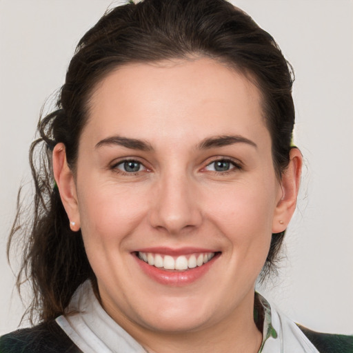
[[1, 353], [79, 353], [81, 350], [56, 321], [10, 332], [0, 337]]

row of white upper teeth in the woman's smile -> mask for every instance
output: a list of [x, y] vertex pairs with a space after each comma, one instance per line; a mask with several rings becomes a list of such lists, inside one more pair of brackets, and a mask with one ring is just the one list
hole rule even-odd
[[139, 259], [148, 263], [148, 265], [157, 268], [164, 268], [165, 270], [188, 270], [188, 268], [196, 268], [208, 263], [213, 258], [214, 252], [205, 254], [191, 254], [189, 256], [177, 256], [153, 254], [152, 252], [139, 252]]

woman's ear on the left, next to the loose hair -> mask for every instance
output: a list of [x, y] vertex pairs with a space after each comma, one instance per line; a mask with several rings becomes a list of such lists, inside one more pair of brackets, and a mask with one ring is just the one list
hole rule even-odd
[[79, 203], [77, 201], [74, 175], [66, 161], [66, 151], [63, 143], [58, 143], [54, 147], [52, 152], [52, 168], [59, 188], [61, 202], [70, 220], [70, 228], [74, 232], [77, 232], [80, 229]]

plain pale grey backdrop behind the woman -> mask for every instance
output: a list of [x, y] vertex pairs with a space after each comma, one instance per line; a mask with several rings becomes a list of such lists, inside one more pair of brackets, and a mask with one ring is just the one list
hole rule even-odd
[[[0, 334], [16, 329], [23, 313], [6, 241], [19, 185], [30, 185], [39, 112], [63, 83], [77, 41], [110, 3], [0, 0]], [[294, 66], [294, 142], [305, 157], [279, 276], [259, 290], [313, 330], [353, 334], [353, 1], [233, 3]]]

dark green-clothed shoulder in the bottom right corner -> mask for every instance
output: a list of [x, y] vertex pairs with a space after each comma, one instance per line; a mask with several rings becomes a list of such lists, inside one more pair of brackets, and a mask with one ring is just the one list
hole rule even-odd
[[353, 336], [324, 334], [298, 326], [320, 353], [353, 353]]

